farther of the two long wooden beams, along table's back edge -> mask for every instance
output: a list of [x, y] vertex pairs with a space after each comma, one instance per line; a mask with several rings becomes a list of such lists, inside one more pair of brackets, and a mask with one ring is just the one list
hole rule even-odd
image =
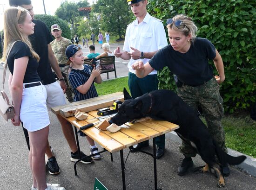
[[77, 106], [77, 105], [86, 104], [86, 103], [94, 102], [94, 101], [98, 101], [98, 100], [104, 100], [104, 99], [108, 99], [109, 97], [120, 96], [120, 95], [123, 95], [123, 93], [122, 92], [115, 92], [115, 93], [108, 94], [108, 95], [101, 95], [101, 96], [90, 98], [90, 99], [87, 99], [87, 100], [76, 101], [76, 102], [68, 103], [68, 104], [65, 104], [65, 105], [56, 106], [56, 107], [51, 108], [51, 110], [54, 114], [60, 114], [60, 109], [62, 109], [62, 108]]

